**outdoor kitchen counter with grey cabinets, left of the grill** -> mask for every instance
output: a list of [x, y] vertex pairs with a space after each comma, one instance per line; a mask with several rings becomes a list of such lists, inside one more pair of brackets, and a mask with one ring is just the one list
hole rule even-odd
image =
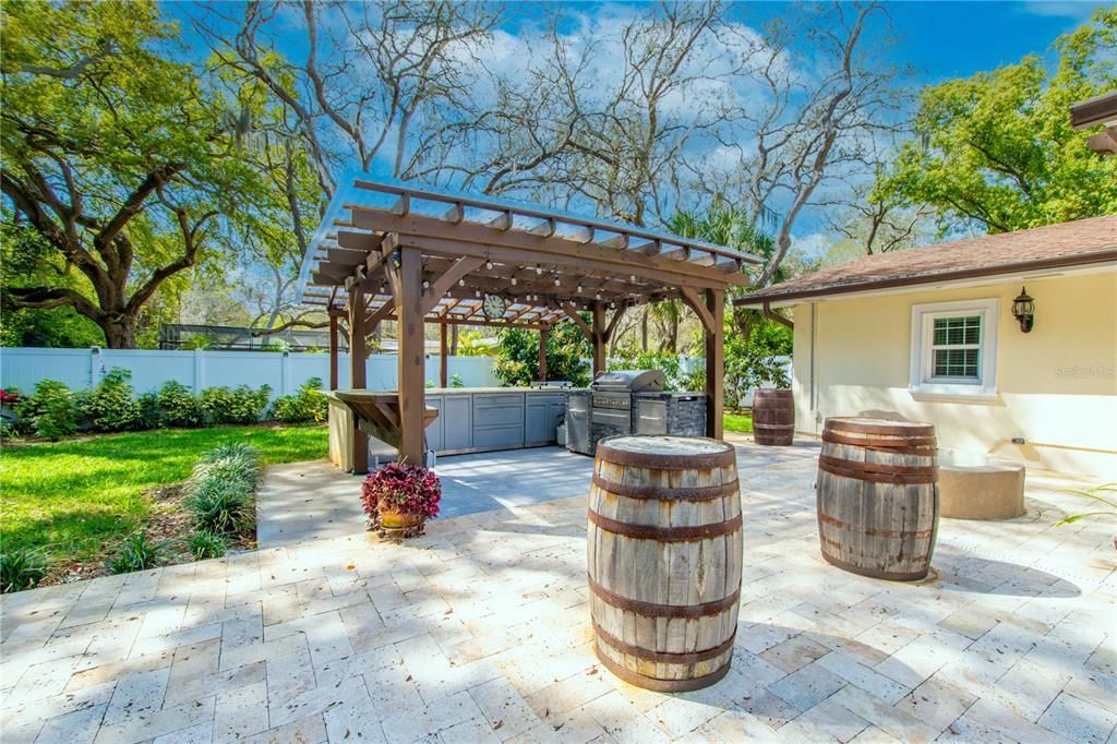
[[[394, 390], [338, 391], [394, 395]], [[352, 469], [353, 419], [336, 394], [330, 399], [330, 459]], [[439, 455], [542, 447], [557, 441], [558, 420], [566, 411], [561, 388], [428, 388], [427, 408], [438, 418], [427, 427], [427, 447]]]

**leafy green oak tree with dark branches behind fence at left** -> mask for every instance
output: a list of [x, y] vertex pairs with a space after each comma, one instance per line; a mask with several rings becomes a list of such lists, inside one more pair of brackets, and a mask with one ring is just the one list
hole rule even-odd
[[42, 249], [3, 304], [70, 306], [133, 347], [145, 304], [259, 189], [236, 117], [168, 58], [178, 30], [152, 2], [12, 2], [0, 22], [2, 217]]

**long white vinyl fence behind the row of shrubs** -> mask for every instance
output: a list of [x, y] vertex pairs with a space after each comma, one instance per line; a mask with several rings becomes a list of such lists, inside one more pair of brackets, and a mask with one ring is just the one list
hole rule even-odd
[[[449, 375], [461, 376], [467, 388], [500, 383], [489, 356], [451, 356]], [[311, 378], [330, 382], [330, 355], [297, 352], [157, 351], [142, 349], [0, 349], [0, 388], [31, 392], [40, 380], [64, 382], [70, 390], [93, 388], [113, 368], [132, 372], [137, 393], [178, 380], [194, 392], [206, 388], [271, 387], [271, 394], [289, 395]], [[349, 388], [349, 354], [338, 354], [338, 385]], [[397, 356], [375, 354], [365, 361], [367, 387], [393, 390]], [[427, 356], [427, 381], [438, 384], [438, 355]]]

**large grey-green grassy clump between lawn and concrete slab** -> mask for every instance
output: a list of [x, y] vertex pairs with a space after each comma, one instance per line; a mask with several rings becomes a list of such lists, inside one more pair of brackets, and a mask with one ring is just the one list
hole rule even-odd
[[247, 533], [256, 516], [255, 492], [260, 477], [259, 452], [247, 445], [226, 445], [194, 466], [183, 505], [200, 532]]

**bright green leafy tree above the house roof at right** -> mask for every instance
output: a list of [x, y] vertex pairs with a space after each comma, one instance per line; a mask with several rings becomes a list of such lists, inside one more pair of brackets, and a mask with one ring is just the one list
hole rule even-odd
[[1117, 158], [1070, 126], [1071, 104], [1117, 88], [1117, 9], [1038, 56], [948, 80], [922, 94], [915, 130], [876, 198], [927, 206], [943, 231], [1006, 232], [1117, 212]]

